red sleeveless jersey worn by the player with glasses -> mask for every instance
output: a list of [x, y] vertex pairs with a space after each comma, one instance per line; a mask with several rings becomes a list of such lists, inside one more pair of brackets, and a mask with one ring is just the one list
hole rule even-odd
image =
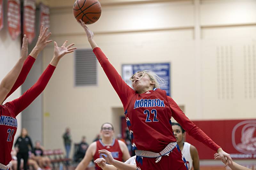
[[[123, 161], [123, 152], [121, 151], [121, 148], [119, 146], [118, 140], [117, 139], [113, 139], [113, 143], [109, 146], [109, 145], [105, 145], [103, 144], [102, 140], [98, 140], [96, 141], [97, 144], [97, 148], [96, 148], [96, 152], [95, 155], [93, 156], [93, 159], [96, 160], [98, 158], [102, 158], [102, 156], [99, 154], [99, 150], [108, 150], [109, 152], [111, 152], [112, 156], [114, 159], [119, 160], [119, 161]], [[98, 166], [97, 164], [95, 164], [95, 169], [96, 170], [100, 170], [100, 166]]]

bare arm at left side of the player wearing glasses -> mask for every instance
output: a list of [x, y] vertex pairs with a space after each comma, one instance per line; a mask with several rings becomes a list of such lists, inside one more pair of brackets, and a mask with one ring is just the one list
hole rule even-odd
[[96, 150], [96, 142], [89, 145], [87, 151], [85, 152], [84, 158], [78, 164], [75, 170], [84, 170], [89, 165], [90, 161], [93, 159], [93, 152]]

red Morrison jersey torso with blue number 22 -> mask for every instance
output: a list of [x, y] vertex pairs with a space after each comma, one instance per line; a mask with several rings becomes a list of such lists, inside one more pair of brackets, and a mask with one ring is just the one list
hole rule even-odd
[[176, 142], [170, 123], [171, 113], [164, 90], [133, 95], [125, 111], [133, 150], [158, 153], [170, 142]]

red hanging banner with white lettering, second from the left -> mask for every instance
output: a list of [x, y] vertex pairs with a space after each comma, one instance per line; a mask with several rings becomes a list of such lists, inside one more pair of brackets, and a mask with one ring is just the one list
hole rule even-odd
[[15, 40], [20, 35], [20, 0], [8, 0], [7, 2], [8, 30]]

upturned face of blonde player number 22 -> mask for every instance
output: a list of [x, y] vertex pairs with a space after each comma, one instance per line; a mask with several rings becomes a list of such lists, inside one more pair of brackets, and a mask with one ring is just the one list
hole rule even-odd
[[146, 73], [143, 75], [142, 72], [138, 72], [132, 78], [132, 87], [136, 92], [143, 92], [153, 84]]

